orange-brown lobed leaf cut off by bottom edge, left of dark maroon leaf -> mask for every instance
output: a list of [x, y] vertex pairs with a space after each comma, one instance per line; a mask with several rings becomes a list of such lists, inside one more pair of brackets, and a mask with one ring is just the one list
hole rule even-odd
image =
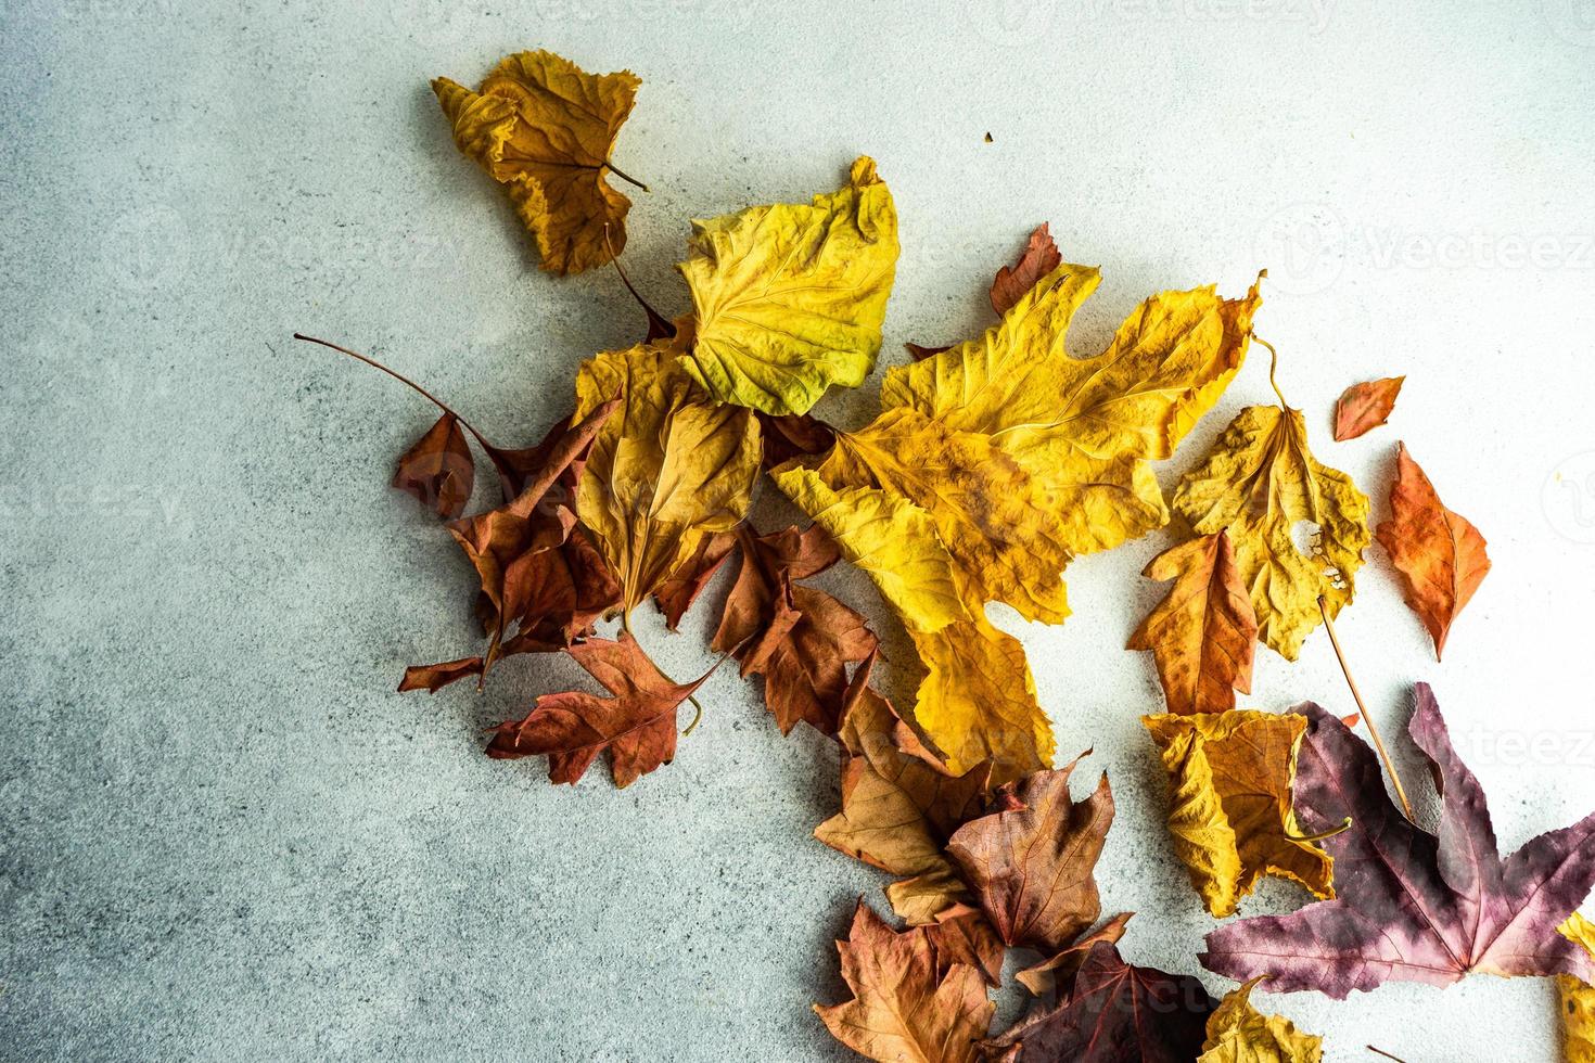
[[941, 969], [925, 928], [898, 934], [863, 900], [836, 947], [853, 999], [815, 1004], [831, 1036], [887, 1063], [973, 1063], [995, 1010], [976, 967]]

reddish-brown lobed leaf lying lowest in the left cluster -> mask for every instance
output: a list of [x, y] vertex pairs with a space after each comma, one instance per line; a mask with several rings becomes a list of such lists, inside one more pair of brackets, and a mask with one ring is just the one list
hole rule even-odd
[[589, 639], [566, 652], [614, 696], [545, 693], [525, 719], [494, 728], [488, 755], [547, 755], [550, 781], [576, 783], [608, 749], [609, 773], [622, 787], [670, 763], [676, 755], [676, 708], [708, 676], [671, 682], [627, 633], [617, 642]]

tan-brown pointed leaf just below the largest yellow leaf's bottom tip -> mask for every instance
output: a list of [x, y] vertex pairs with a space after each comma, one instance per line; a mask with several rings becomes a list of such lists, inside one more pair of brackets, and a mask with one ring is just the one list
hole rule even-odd
[[842, 811], [813, 837], [893, 875], [892, 908], [911, 924], [933, 923], [970, 899], [943, 846], [984, 808], [990, 765], [957, 776], [869, 685], [874, 653], [853, 673], [837, 739]]

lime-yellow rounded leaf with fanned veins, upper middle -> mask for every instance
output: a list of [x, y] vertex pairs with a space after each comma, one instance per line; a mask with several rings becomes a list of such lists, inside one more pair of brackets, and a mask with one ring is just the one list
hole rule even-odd
[[896, 273], [896, 209], [872, 159], [813, 202], [692, 223], [681, 274], [697, 339], [683, 357], [716, 402], [807, 413], [831, 384], [857, 387], [880, 351]]

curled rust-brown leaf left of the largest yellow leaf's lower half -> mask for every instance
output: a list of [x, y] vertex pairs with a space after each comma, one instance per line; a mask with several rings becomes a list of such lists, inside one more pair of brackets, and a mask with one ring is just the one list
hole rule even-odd
[[864, 618], [825, 591], [794, 580], [836, 564], [836, 543], [818, 524], [756, 535], [737, 529], [742, 567], [726, 598], [713, 649], [732, 653], [743, 676], [764, 676], [764, 703], [782, 733], [799, 720], [834, 735], [847, 666], [876, 649]]

